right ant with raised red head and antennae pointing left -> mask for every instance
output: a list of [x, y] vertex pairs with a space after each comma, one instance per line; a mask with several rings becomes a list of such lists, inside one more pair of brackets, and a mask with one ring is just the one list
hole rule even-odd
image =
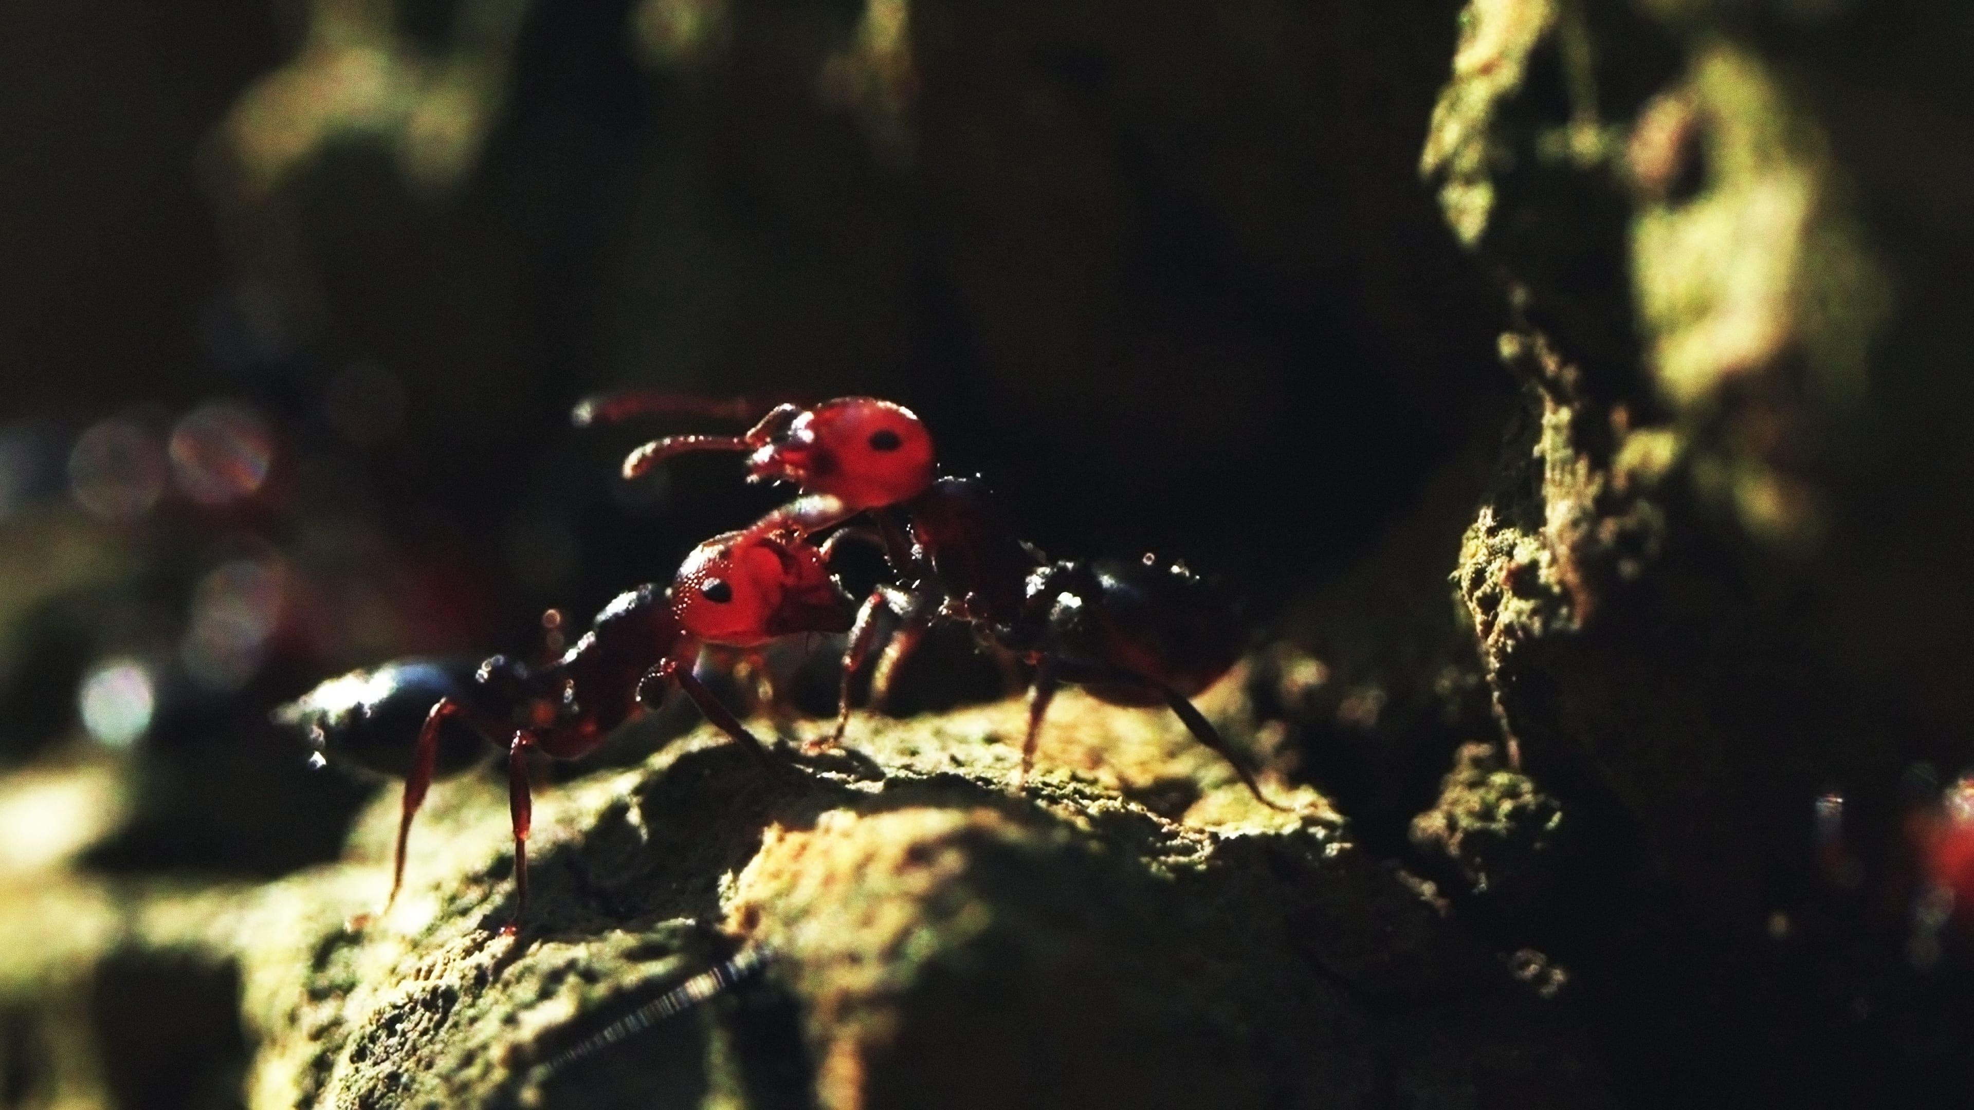
[[[596, 405], [578, 407], [578, 423], [588, 423], [600, 411]], [[612, 415], [683, 411], [661, 393], [622, 393], [604, 405]], [[1017, 782], [1026, 780], [1034, 762], [1056, 687], [1074, 681], [1113, 705], [1169, 705], [1261, 804], [1281, 808], [1261, 794], [1253, 772], [1188, 701], [1234, 666], [1240, 642], [1230, 634], [1236, 622], [1228, 608], [1182, 563], [1161, 565], [1149, 555], [1143, 563], [1048, 563], [1003, 525], [981, 478], [936, 478], [924, 423], [910, 409], [874, 397], [839, 397], [813, 409], [780, 405], [744, 436], [657, 438], [630, 452], [624, 474], [634, 478], [691, 450], [746, 452], [750, 480], [782, 480], [801, 490], [748, 533], [811, 533], [859, 512], [876, 521], [898, 585], [876, 587], [857, 614], [843, 664], [837, 741], [849, 723], [851, 679], [874, 646], [876, 610], [890, 608], [902, 624], [878, 660], [873, 701], [884, 697], [898, 662], [942, 620], [965, 622], [983, 642], [1034, 664]]]

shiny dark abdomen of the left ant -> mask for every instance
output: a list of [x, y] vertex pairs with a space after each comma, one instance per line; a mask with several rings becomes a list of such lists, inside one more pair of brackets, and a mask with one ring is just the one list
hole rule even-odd
[[[274, 709], [274, 721], [302, 729], [318, 766], [405, 778], [426, 713], [444, 697], [478, 701], [476, 672], [472, 660], [393, 660], [324, 681]], [[488, 754], [492, 747], [454, 717], [438, 731], [434, 774], [458, 774]]]

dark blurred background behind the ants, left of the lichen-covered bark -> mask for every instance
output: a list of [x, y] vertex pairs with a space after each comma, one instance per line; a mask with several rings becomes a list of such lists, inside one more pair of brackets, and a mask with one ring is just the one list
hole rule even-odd
[[1457, 6], [1125, 8], [6, 6], [0, 753], [162, 760], [207, 820], [111, 863], [332, 853], [270, 705], [533, 652], [776, 502], [620, 482], [679, 431], [569, 425], [622, 385], [896, 399], [1046, 551], [1267, 630], [1498, 427], [1415, 170]]

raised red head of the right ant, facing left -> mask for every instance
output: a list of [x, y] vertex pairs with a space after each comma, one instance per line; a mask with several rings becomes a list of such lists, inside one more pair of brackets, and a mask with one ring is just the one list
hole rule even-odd
[[932, 433], [904, 405], [839, 397], [803, 411], [776, 433], [756, 440], [760, 446], [748, 458], [754, 478], [829, 494], [851, 510], [892, 506], [932, 484]]

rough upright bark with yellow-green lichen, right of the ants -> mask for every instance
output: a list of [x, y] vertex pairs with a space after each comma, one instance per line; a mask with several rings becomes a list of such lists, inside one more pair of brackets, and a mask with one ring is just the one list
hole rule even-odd
[[[1453, 585], [1500, 739], [1565, 814], [1556, 912], [1455, 905], [1563, 950], [1609, 1043], [1652, 1043], [1611, 1059], [1656, 1096], [1775, 1096], [1796, 1053], [1828, 1061], [1788, 1086], [1814, 1096], [1952, 1082], [1895, 1029], [1964, 1033], [1964, 980], [1907, 962], [1883, 909], [1909, 895], [1913, 784], [1960, 766], [1974, 723], [1936, 677], [1968, 662], [1946, 561], [1974, 553], [1948, 508], [1970, 460], [1942, 431], [1966, 322], [1935, 292], [1964, 288], [1940, 201], [1966, 190], [1921, 150], [1964, 144], [1938, 111], [1964, 103], [1966, 40], [1929, 26], [1911, 4], [1477, 2], [1427, 140], [1524, 387]], [[1415, 832], [1471, 883], [1455, 794]], [[1794, 974], [1842, 986], [1798, 1005]]]

